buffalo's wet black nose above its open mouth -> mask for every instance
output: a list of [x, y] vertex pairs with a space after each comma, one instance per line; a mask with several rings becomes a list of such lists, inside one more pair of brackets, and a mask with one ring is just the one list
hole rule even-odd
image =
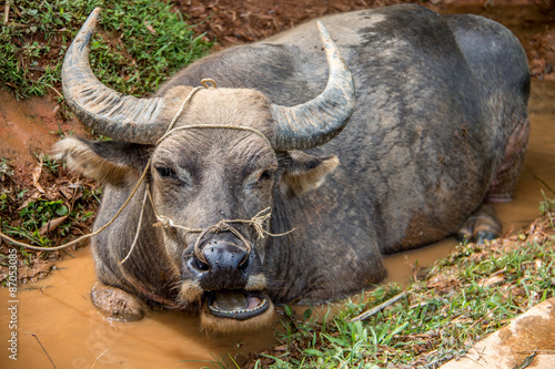
[[201, 248], [201, 257], [193, 254], [190, 266], [200, 274], [204, 289], [242, 288], [249, 266], [246, 249], [230, 243], [208, 243]]

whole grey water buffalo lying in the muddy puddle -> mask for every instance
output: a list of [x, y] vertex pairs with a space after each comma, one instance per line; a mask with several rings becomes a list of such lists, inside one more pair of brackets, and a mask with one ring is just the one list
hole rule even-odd
[[254, 329], [274, 304], [380, 281], [383, 255], [500, 232], [486, 203], [511, 198], [529, 131], [527, 61], [504, 27], [420, 6], [331, 16], [335, 43], [309, 22], [135, 99], [90, 69], [98, 14], [68, 49], [63, 91], [114, 141], [56, 151], [105, 184], [97, 229], [139, 183], [92, 244], [92, 299], [112, 318], [159, 306]]

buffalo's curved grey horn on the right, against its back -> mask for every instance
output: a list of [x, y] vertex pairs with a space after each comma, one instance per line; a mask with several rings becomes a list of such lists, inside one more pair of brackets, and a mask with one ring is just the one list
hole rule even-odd
[[272, 104], [276, 150], [306, 150], [326, 143], [346, 125], [354, 109], [354, 82], [330, 32], [316, 22], [330, 68], [325, 90], [315, 99], [286, 107]]

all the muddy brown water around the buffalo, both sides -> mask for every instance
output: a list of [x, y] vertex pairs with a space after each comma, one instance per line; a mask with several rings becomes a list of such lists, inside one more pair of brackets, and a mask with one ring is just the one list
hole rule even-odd
[[[555, 188], [555, 84], [535, 82], [531, 101], [532, 133], [515, 201], [497, 205], [504, 229], [518, 229], [538, 216], [541, 189]], [[411, 266], [427, 266], [455, 246], [446, 240], [423, 249], [387, 257], [389, 281], [407, 283]], [[92, 306], [94, 283], [88, 249], [58, 263], [58, 269], [37, 284], [19, 286], [17, 300], [18, 360], [9, 359], [8, 339], [12, 298], [0, 289], [0, 368], [199, 368], [228, 352], [258, 351], [273, 342], [273, 329], [246, 336], [212, 337], [199, 331], [193, 316], [151, 312], [138, 322], [107, 320]], [[32, 336], [36, 334], [39, 341]], [[212, 363], [211, 363], [212, 361]]]

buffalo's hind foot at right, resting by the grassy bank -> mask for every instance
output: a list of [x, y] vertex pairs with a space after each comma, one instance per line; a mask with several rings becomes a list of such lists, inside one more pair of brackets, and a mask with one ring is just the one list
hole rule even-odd
[[492, 205], [484, 204], [474, 212], [458, 229], [461, 239], [484, 244], [486, 240], [497, 238], [501, 234], [501, 223]]

